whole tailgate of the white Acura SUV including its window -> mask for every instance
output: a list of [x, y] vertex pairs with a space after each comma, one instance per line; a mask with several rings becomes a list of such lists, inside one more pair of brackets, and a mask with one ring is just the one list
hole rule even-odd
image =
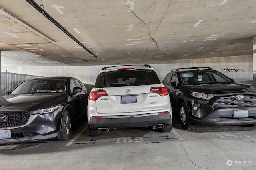
[[162, 109], [162, 96], [158, 93], [163, 85], [152, 69], [105, 72], [98, 76], [96, 86], [99, 87], [96, 90], [108, 94], [96, 100], [98, 113], [139, 114]]

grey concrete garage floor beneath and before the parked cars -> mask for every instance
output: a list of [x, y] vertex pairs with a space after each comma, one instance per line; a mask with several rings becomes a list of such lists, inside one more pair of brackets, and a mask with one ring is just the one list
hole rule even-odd
[[254, 170], [256, 127], [196, 126], [174, 120], [169, 133], [112, 129], [90, 137], [86, 121], [72, 140], [0, 145], [0, 170]]

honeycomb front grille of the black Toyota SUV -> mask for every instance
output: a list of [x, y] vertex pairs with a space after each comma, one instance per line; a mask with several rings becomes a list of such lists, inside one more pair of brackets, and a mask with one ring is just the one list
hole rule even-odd
[[236, 100], [234, 96], [220, 97], [212, 107], [216, 108], [231, 108], [231, 107], [255, 107], [256, 96], [244, 96], [242, 100]]

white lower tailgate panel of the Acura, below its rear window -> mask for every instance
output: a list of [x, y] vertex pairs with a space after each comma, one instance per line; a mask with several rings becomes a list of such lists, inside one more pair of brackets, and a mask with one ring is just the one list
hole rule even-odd
[[[160, 87], [160, 84], [154, 87]], [[96, 100], [97, 112], [132, 113], [160, 110], [162, 96], [150, 92], [151, 88], [152, 85], [104, 88], [108, 96], [101, 96]]]

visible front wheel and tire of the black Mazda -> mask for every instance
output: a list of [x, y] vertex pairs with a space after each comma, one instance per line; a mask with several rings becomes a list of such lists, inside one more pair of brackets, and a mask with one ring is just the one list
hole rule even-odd
[[61, 120], [61, 135], [58, 137], [58, 141], [66, 141], [70, 139], [72, 135], [73, 125], [71, 114], [68, 110], [65, 110]]

